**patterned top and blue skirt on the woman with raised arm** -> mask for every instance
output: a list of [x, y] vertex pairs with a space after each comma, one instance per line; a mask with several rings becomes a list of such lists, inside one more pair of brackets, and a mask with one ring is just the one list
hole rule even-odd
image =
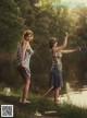
[[52, 56], [52, 68], [50, 70], [50, 86], [53, 87], [62, 87], [62, 54], [60, 51], [54, 52], [53, 49], [51, 50]]

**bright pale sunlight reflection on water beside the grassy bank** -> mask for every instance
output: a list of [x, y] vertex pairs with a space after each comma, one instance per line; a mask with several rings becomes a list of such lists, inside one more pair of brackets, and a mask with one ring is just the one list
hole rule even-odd
[[66, 94], [60, 96], [60, 102], [66, 102], [79, 107], [87, 107], [87, 85], [74, 92], [70, 83], [66, 82]]

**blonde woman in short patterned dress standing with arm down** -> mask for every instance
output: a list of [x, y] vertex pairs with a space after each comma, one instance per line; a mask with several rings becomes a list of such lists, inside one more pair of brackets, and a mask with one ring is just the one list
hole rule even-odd
[[21, 43], [18, 43], [17, 46], [17, 70], [24, 80], [23, 94], [20, 98], [20, 103], [22, 104], [26, 103], [30, 84], [29, 61], [34, 51], [29, 43], [33, 40], [33, 38], [34, 38], [33, 32], [30, 30], [27, 30], [24, 32], [23, 39]]

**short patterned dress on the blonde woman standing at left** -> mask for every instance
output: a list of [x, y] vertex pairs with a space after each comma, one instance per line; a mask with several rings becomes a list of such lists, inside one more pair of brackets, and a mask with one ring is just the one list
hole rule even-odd
[[[33, 51], [32, 47], [28, 47], [26, 49], [24, 60], [22, 60], [23, 49], [21, 47], [21, 44], [18, 43], [16, 62], [17, 62], [17, 69], [23, 78], [25, 78], [26, 74], [29, 75], [29, 78], [30, 78], [29, 61], [30, 61], [30, 57], [33, 54], [34, 54], [34, 51]], [[23, 61], [23, 66], [22, 66], [22, 61]]]

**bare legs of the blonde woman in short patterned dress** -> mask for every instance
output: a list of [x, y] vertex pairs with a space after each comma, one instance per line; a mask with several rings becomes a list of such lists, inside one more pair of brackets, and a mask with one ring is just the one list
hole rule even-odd
[[26, 78], [25, 83], [23, 85], [23, 95], [20, 99], [20, 103], [24, 104], [26, 102], [26, 97], [27, 97], [28, 90], [29, 90], [29, 84], [30, 84], [30, 79]]

